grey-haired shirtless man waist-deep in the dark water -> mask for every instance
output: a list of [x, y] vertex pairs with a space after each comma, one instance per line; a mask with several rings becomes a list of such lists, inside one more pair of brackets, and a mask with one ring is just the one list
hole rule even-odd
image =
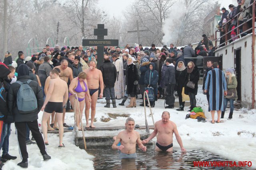
[[[146, 152], [147, 147], [145, 147], [141, 140], [140, 134], [137, 131], [134, 131], [134, 119], [128, 117], [126, 119], [126, 130], [121, 131], [116, 136], [116, 140], [112, 145], [112, 149], [120, 150], [119, 158], [136, 158], [136, 143], [138, 143], [138, 147]], [[118, 143], [121, 142], [121, 145], [117, 146]]]

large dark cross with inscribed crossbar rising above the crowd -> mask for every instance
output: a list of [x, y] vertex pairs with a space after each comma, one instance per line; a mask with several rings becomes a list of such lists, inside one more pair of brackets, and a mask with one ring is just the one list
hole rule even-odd
[[97, 39], [83, 39], [83, 46], [97, 46], [97, 68], [103, 64], [104, 46], [118, 46], [118, 39], [104, 39], [104, 35], [108, 35], [108, 29], [104, 28], [104, 24], [98, 24], [98, 27], [94, 29], [94, 35], [97, 35]]

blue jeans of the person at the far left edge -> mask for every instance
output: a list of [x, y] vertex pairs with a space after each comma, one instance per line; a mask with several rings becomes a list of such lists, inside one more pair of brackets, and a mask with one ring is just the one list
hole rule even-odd
[[11, 134], [11, 123], [4, 123], [3, 125], [3, 132], [2, 132], [2, 137], [1, 139], [3, 139], [1, 141], [2, 145], [0, 147], [0, 150], [2, 148], [3, 150], [3, 153], [2, 155], [5, 155], [8, 153], [9, 151], [9, 137], [10, 137], [10, 134]]

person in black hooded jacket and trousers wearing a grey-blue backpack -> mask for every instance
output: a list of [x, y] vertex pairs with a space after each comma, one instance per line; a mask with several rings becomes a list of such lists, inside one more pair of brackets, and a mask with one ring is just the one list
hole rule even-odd
[[[22, 83], [28, 81], [30, 79], [28, 66], [26, 66], [25, 64], [21, 64], [20, 67], [18, 68], [18, 75], [19, 75], [18, 81]], [[17, 137], [18, 137], [18, 145], [19, 145], [20, 154], [22, 158], [22, 162], [18, 163], [18, 166], [21, 166], [22, 168], [28, 167], [28, 152], [27, 152], [26, 141], [25, 141], [26, 124], [31, 130], [32, 135], [36, 141], [38, 148], [40, 149], [40, 152], [44, 160], [49, 160], [51, 158], [51, 156], [49, 156], [46, 152], [44, 139], [38, 128], [38, 121], [37, 121], [38, 112], [40, 111], [41, 107], [44, 104], [44, 96], [42, 93], [42, 89], [40, 88], [39, 84], [35, 81], [30, 81], [28, 85], [32, 88], [36, 96], [37, 106], [38, 106], [37, 109], [26, 114], [20, 113], [17, 106], [17, 96], [18, 96], [18, 91], [21, 85], [18, 82], [11, 84], [10, 90], [8, 91], [8, 102], [7, 102], [10, 114], [12, 114], [14, 117], [14, 122], [15, 122], [16, 131], [17, 131]]]

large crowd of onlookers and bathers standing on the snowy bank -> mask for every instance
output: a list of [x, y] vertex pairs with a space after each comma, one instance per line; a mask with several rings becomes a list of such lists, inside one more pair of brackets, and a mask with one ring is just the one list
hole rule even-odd
[[[22, 162], [18, 165], [27, 167], [28, 153], [26, 145], [35, 143], [32, 140], [36, 141], [44, 160], [50, 159], [45, 151], [45, 146], [49, 145], [47, 131], [58, 129], [60, 139], [58, 147], [65, 147], [62, 142], [63, 128], [70, 127], [65, 123], [65, 113], [73, 112], [74, 107], [76, 107], [75, 122], [78, 130], [82, 130], [80, 117], [82, 117], [84, 106], [86, 128], [95, 128], [96, 103], [98, 98], [103, 96], [106, 99], [104, 107], [110, 108], [111, 100], [112, 106], [116, 108], [116, 100], [120, 99], [122, 99], [122, 102], [118, 104], [118, 107], [122, 107], [129, 95], [130, 104], [126, 107], [136, 107], [138, 95], [143, 95], [145, 90], [152, 88], [154, 99], [150, 100], [151, 107], [156, 105], [155, 101], [158, 99], [165, 99], [165, 105], [168, 106], [162, 107], [174, 108], [174, 92], [177, 91], [179, 108], [176, 110], [183, 111], [185, 102], [182, 100], [182, 92], [184, 92], [190, 98], [190, 109], [188, 111], [191, 111], [197, 106], [196, 95], [200, 73], [197, 66], [192, 61], [186, 62], [185, 58], [196, 57], [201, 54], [202, 56], [214, 54], [206, 35], [203, 35], [198, 47], [198, 51], [192, 49], [191, 44], [181, 49], [177, 49], [173, 44], [170, 44], [169, 48], [164, 45], [161, 49], [157, 49], [154, 44], [151, 48], [143, 48], [142, 45], [138, 44], [135, 44], [134, 47], [126, 45], [123, 49], [120, 47], [104, 47], [104, 63], [100, 66], [97, 66], [97, 47], [84, 50], [82, 45], [71, 47], [71, 49], [70, 47], [60, 48], [58, 45], [52, 48], [46, 45], [42, 52], [35, 53], [31, 57], [25, 58], [24, 53], [19, 51], [18, 57], [14, 59], [15, 62], [12, 61], [12, 55], [6, 52], [4, 62], [0, 64], [0, 71], [4, 72], [0, 77], [1, 87], [4, 89], [1, 93], [6, 92], [7, 96], [7, 99], [5, 98], [5, 101], [7, 101], [6, 108], [2, 107], [6, 110], [1, 111], [0, 115], [2, 116], [0, 117], [0, 122], [2, 122], [2, 124], [0, 123], [2, 126], [0, 129], [3, 128], [1, 139], [4, 139], [0, 143], [0, 148], [4, 151], [1, 158], [2, 162], [16, 159], [16, 156], [8, 154], [10, 123], [15, 122], [22, 155]], [[211, 90], [212, 83], [210, 81], [212, 81], [211, 75], [216, 73], [212, 70], [217, 69], [216, 72], [221, 70], [212, 61], [208, 61], [207, 66], [203, 90], [207, 94], [209, 109], [211, 111], [217, 110], [218, 115], [222, 111], [221, 117], [223, 118], [229, 101], [232, 107], [229, 119], [232, 119], [233, 102], [236, 96], [233, 95], [231, 98], [225, 99], [224, 96], [228, 88], [236, 88], [237, 83], [233, 76], [234, 70], [231, 68], [227, 70], [228, 85], [225, 84], [226, 78], [221, 77], [223, 86], [220, 88], [225, 93], [219, 99], [214, 98], [213, 101], [210, 96], [215, 91]], [[25, 85], [30, 86], [30, 92], [33, 92], [34, 95], [32, 96], [34, 98], [20, 96], [20, 89], [24, 89], [23, 86]], [[21, 97], [25, 102], [18, 100]], [[219, 104], [218, 106], [214, 106], [216, 102]], [[34, 104], [35, 107], [31, 108]], [[144, 104], [140, 104], [140, 106], [144, 106]], [[148, 106], [147, 102], [146, 106]], [[40, 135], [37, 122], [40, 110], [44, 111], [42, 116], [44, 138]], [[24, 114], [25, 112], [26, 114]], [[90, 123], [89, 115], [91, 115]], [[219, 117], [217, 122], [220, 122]], [[214, 117], [212, 123], [214, 123]], [[33, 136], [31, 140], [29, 137], [30, 131]], [[4, 144], [5, 142], [7, 144]], [[144, 141], [144, 143], [146, 142], [148, 141]], [[142, 144], [140, 143], [140, 145]], [[180, 145], [182, 147], [182, 144]], [[1, 165], [3, 165], [2, 162]]]

